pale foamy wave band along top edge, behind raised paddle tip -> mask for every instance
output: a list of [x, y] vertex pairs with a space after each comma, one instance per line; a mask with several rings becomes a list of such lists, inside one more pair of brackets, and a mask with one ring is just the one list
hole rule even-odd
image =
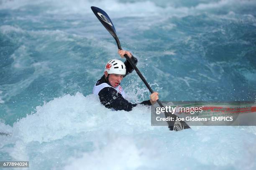
[[[111, 5], [109, 5], [111, 4]], [[239, 10], [242, 6], [255, 6], [256, 2], [252, 0], [218, 0], [207, 2], [205, 0], [195, 1], [190, 5], [190, 2], [181, 4], [179, 1], [119, 1], [119, 0], [4, 0], [1, 3], [0, 9], [24, 9], [26, 7], [38, 6], [42, 13], [49, 14], [89, 14], [92, 13], [90, 6], [97, 6], [110, 14], [111, 18], [123, 17], [151, 17], [151, 16], [186, 16], [198, 14], [198, 12], [208, 11], [212, 9], [225, 9], [230, 12], [230, 9]], [[123, 9], [125, 7], [125, 10]], [[38, 10], [38, 9], [37, 9]], [[93, 16], [93, 15], [92, 15]], [[89, 16], [90, 17], [90, 16]]]

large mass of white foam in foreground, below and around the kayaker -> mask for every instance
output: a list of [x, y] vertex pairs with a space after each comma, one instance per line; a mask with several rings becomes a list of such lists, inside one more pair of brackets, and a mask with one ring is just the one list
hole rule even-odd
[[236, 167], [241, 159], [248, 161], [239, 167], [255, 167], [255, 129], [197, 127], [175, 133], [151, 126], [150, 119], [145, 106], [111, 111], [95, 95], [64, 95], [36, 107], [13, 128], [0, 124], [13, 134], [0, 138], [0, 152], [29, 160], [33, 169], [216, 169]]

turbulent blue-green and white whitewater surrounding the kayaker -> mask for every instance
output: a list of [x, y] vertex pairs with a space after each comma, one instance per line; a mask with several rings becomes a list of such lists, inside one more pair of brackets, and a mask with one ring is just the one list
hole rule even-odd
[[[100, 105], [92, 87], [117, 54], [90, 6], [161, 100], [256, 100], [255, 0], [0, 0], [0, 161], [29, 169], [256, 168], [256, 128], [151, 126], [150, 108]], [[124, 60], [123, 60], [124, 61]], [[136, 72], [130, 101], [148, 100]]]

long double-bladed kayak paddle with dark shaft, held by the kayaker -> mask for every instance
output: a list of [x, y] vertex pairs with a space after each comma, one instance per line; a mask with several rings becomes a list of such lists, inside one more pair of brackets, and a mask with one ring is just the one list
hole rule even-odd
[[[118, 36], [116, 35], [116, 31], [115, 31], [115, 27], [112, 23], [112, 21], [110, 20], [109, 16], [107, 13], [105, 13], [105, 11], [103, 11], [102, 9], [98, 8], [98, 7], [91, 7], [92, 12], [96, 15], [96, 17], [100, 20], [100, 22], [102, 23], [102, 25], [108, 30], [108, 32], [110, 32], [110, 34], [114, 37], [116, 44], [118, 46], [119, 50], [122, 50], [122, 47], [120, 45], [120, 41], [118, 39]], [[132, 65], [133, 69], [137, 72], [138, 76], [141, 78], [141, 80], [145, 83], [145, 85], [148, 87], [148, 90], [153, 93], [154, 91], [151, 89], [151, 87], [148, 85], [148, 82], [146, 81], [146, 79], [143, 77], [143, 75], [141, 74], [141, 72], [138, 70], [138, 68], [136, 67], [136, 65], [133, 63], [133, 61], [131, 60], [130, 57], [128, 57], [127, 54], [124, 55], [126, 60], [128, 60], [128, 62]], [[164, 107], [162, 105], [162, 103], [160, 102], [160, 100], [156, 100], [156, 102], [159, 104], [160, 107]], [[167, 113], [165, 112], [165, 117], [174, 117], [174, 120], [176, 120], [176, 117], [178, 117], [177, 115], [171, 114], [171, 113]], [[167, 121], [170, 130], [175, 130], [175, 131], [180, 131], [183, 129], [189, 129], [189, 125], [187, 125], [186, 122], [184, 121]]]

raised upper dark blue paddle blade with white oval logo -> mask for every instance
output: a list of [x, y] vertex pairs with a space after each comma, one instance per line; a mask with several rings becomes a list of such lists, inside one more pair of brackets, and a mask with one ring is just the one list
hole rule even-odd
[[104, 10], [98, 8], [98, 7], [91, 7], [92, 12], [96, 15], [96, 17], [98, 18], [98, 20], [100, 20], [100, 22], [102, 23], [102, 25], [104, 25], [104, 27], [108, 30], [108, 32], [110, 32], [110, 34], [116, 38], [116, 32], [115, 32], [115, 27], [112, 23], [112, 21], [110, 20], [109, 16], [107, 13], [105, 13]]

